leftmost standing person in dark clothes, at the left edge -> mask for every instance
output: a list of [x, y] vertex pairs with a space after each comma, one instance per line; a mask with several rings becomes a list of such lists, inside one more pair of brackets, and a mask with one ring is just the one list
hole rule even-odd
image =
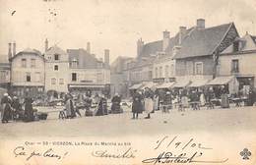
[[4, 93], [3, 98], [1, 99], [2, 105], [2, 123], [8, 123], [9, 119], [11, 118], [11, 100], [8, 98], [8, 93]]

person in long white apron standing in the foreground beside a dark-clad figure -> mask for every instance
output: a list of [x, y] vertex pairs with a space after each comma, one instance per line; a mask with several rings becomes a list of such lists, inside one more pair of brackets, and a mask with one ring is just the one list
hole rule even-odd
[[144, 102], [145, 102], [145, 112], [148, 114], [147, 117], [145, 117], [145, 119], [150, 119], [151, 118], [151, 113], [153, 111], [153, 91], [149, 88], [146, 87], [145, 88], [145, 92], [144, 92]]

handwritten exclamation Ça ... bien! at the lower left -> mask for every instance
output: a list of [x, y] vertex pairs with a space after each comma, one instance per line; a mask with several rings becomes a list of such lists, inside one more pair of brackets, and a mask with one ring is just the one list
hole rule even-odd
[[32, 152], [28, 152], [26, 151], [26, 148], [24, 146], [17, 146], [13, 150], [13, 153], [15, 157], [25, 156], [27, 161], [29, 161], [32, 157], [55, 158], [57, 160], [60, 160], [68, 154], [68, 152], [65, 152], [64, 154], [58, 154], [53, 150], [53, 148], [48, 148], [44, 151], [33, 150]]

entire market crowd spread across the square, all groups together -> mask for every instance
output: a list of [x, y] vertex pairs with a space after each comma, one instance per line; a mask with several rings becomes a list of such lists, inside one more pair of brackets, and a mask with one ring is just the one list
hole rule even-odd
[[[138, 119], [139, 114], [146, 114], [145, 119], [151, 119], [151, 114], [162, 110], [163, 113], [169, 113], [173, 108], [184, 111], [191, 107], [193, 110], [199, 110], [202, 106], [214, 108], [215, 105], [221, 105], [223, 108], [229, 107], [228, 90], [226, 88], [179, 88], [179, 89], [137, 89], [132, 95], [132, 119]], [[237, 100], [242, 93], [232, 95]], [[254, 90], [248, 90], [247, 97], [244, 99], [244, 105], [252, 106], [255, 102], [256, 94]], [[80, 110], [85, 111], [85, 116], [103, 116], [109, 113], [123, 113], [121, 107], [121, 96], [115, 93], [111, 98], [111, 107], [107, 107], [107, 98], [103, 94], [86, 91], [84, 94], [65, 93], [61, 98], [64, 103], [63, 118], [73, 119], [77, 116], [82, 117]], [[33, 109], [34, 99], [30, 94], [19, 99], [17, 96], [11, 97], [4, 93], [1, 98], [1, 119], [2, 123], [8, 123], [10, 120], [31, 122], [37, 120], [38, 113]], [[36, 116], [37, 115], [37, 116]], [[44, 114], [45, 115], [45, 114]], [[47, 116], [47, 115], [46, 115]]]

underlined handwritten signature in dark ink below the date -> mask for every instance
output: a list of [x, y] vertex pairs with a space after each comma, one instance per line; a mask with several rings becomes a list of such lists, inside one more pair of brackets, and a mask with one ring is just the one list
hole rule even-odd
[[181, 153], [179, 155], [173, 155], [172, 152], [161, 152], [158, 157], [147, 158], [143, 160], [143, 163], [151, 164], [169, 164], [169, 163], [224, 163], [228, 159], [224, 160], [199, 160], [197, 157], [201, 157], [202, 152], [195, 152], [191, 156], [188, 156], [187, 153]]

